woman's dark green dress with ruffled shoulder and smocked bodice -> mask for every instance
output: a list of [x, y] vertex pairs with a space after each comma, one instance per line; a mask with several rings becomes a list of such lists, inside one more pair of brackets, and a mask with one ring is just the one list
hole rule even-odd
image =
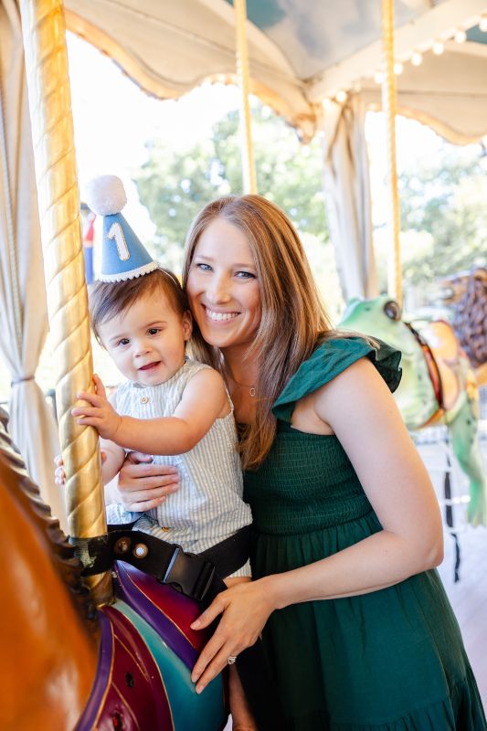
[[[333, 339], [302, 363], [274, 405], [275, 442], [259, 470], [248, 471], [244, 481], [255, 528], [255, 578], [305, 566], [381, 530], [338, 439], [290, 424], [299, 398], [364, 356], [395, 390], [397, 351], [386, 344], [376, 350], [360, 338]], [[286, 729], [487, 728], [436, 570], [370, 594], [275, 611], [263, 641]]]

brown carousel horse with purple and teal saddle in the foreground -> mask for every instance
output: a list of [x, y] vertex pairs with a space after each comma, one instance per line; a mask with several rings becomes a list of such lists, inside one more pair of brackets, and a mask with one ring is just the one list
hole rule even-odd
[[[5, 412], [4, 412], [5, 414]], [[2, 731], [217, 731], [221, 675], [198, 695], [201, 609], [124, 562], [96, 609], [73, 546], [0, 424]]]

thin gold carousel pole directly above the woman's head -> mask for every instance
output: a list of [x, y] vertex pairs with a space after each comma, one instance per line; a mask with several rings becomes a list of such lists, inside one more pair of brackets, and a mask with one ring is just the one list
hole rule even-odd
[[244, 193], [257, 193], [249, 105], [249, 54], [247, 48], [246, 0], [234, 0], [237, 32], [237, 76], [240, 88], [240, 128]]

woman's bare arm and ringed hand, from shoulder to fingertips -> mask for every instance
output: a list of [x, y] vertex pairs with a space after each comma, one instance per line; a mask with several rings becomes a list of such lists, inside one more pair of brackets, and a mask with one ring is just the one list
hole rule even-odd
[[218, 595], [193, 625], [206, 627], [223, 612], [196, 662], [196, 689], [222, 670], [229, 655], [257, 639], [274, 609], [376, 591], [442, 559], [441, 518], [428, 472], [375, 367], [358, 361], [320, 388], [311, 403], [344, 446], [383, 530], [309, 566]]

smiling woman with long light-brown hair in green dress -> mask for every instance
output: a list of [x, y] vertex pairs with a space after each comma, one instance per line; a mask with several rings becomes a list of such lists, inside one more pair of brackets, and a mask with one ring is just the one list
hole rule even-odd
[[400, 355], [333, 332], [296, 232], [259, 196], [196, 217], [184, 284], [197, 355], [234, 402], [255, 526], [256, 580], [193, 625], [221, 614], [196, 692], [262, 632], [287, 728], [485, 729], [431, 570], [438, 504], [390, 395]]

